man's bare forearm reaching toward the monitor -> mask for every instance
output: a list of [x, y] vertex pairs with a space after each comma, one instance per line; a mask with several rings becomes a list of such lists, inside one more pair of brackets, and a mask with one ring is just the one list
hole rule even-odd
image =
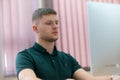
[[82, 68], [75, 71], [73, 77], [75, 80], [111, 80], [110, 76], [93, 77]]

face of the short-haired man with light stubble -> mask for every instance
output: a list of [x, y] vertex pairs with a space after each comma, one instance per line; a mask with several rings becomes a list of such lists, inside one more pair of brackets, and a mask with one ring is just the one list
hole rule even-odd
[[39, 38], [48, 42], [58, 39], [58, 19], [55, 14], [43, 15], [38, 25]]

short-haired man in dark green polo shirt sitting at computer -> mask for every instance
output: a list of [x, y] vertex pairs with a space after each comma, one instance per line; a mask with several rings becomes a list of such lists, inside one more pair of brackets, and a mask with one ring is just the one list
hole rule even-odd
[[35, 44], [17, 54], [16, 71], [19, 80], [111, 80], [110, 76], [93, 77], [70, 55], [57, 50], [57, 13], [40, 8], [32, 17]]

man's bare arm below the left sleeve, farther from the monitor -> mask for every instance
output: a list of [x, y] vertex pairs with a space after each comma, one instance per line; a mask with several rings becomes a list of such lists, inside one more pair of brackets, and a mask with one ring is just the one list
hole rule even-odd
[[34, 71], [32, 69], [23, 69], [18, 74], [19, 80], [42, 80], [37, 78]]

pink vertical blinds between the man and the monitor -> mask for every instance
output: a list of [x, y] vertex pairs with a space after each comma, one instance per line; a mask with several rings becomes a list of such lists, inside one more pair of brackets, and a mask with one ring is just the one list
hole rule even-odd
[[60, 19], [57, 47], [73, 55], [83, 67], [90, 66], [87, 1], [120, 3], [120, 0], [53, 0]]

